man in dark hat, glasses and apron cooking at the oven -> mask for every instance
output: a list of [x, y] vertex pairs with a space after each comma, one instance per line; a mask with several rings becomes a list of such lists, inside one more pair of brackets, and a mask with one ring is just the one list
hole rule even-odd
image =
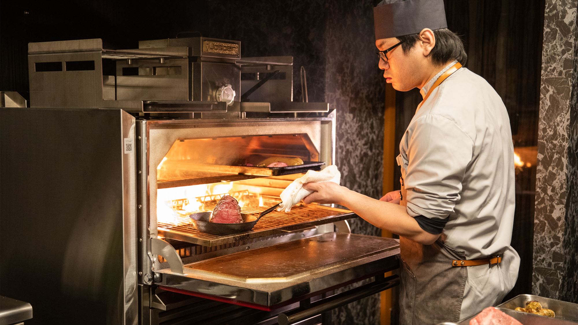
[[399, 144], [401, 190], [376, 200], [307, 183], [304, 201], [347, 206], [399, 235], [401, 324], [457, 322], [501, 302], [518, 276], [509, 118], [494, 88], [462, 67], [443, 0], [385, 0], [374, 20], [386, 82], [423, 97]]

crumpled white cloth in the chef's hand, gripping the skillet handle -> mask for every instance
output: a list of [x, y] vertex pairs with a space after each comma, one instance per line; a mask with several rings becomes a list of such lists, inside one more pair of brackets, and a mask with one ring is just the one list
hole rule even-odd
[[286, 189], [281, 192], [281, 204], [277, 211], [290, 212], [291, 208], [298, 204], [307, 195], [313, 193], [303, 189], [303, 184], [305, 183], [319, 183], [319, 182], [334, 182], [339, 184], [341, 180], [341, 173], [338, 171], [336, 165], [329, 165], [323, 169], [323, 171], [307, 171], [307, 173], [298, 179], [295, 179], [293, 183], [289, 184]]

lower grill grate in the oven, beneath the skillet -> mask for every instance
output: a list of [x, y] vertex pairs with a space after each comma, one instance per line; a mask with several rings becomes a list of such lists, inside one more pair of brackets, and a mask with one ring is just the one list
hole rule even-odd
[[[279, 198], [266, 197], [263, 198], [263, 206], [259, 206], [259, 199], [257, 195], [249, 194], [240, 202], [242, 204], [243, 213], [259, 213], [280, 202]], [[205, 205], [199, 212], [209, 212], [214, 209], [217, 201], [205, 202]], [[295, 229], [305, 228], [308, 226], [317, 226], [319, 224], [330, 223], [333, 221], [346, 220], [355, 217], [350, 210], [330, 208], [328, 206], [316, 204], [298, 204], [291, 208], [291, 212], [273, 211], [261, 218], [252, 231], [244, 232], [242, 234], [234, 235], [211, 235], [205, 232], [198, 231], [195, 225], [191, 223], [188, 215], [180, 215], [177, 217], [178, 223], [158, 223], [158, 234], [165, 238], [177, 239], [179, 241], [197, 243], [203, 246], [223, 245], [250, 238], [263, 237], [271, 234], [276, 234], [283, 231], [291, 231]]]

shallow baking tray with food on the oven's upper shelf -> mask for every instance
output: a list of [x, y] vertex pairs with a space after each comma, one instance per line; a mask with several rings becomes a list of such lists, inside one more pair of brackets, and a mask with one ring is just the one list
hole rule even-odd
[[222, 172], [222, 173], [237, 173], [243, 175], [255, 176], [281, 176], [291, 175], [297, 173], [304, 173], [309, 170], [320, 171], [321, 166], [325, 165], [323, 161], [303, 161], [302, 165], [287, 166], [287, 167], [256, 167], [256, 166], [232, 166], [232, 165], [194, 165], [191, 167], [197, 168], [204, 172]]

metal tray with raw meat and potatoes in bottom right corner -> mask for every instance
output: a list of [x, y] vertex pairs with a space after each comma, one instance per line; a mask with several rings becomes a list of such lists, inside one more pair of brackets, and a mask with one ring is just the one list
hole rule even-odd
[[[556, 314], [556, 317], [546, 317], [540, 315], [534, 315], [532, 313], [517, 312], [514, 311], [516, 307], [524, 307], [527, 301], [536, 300], [544, 308], [552, 309]], [[578, 324], [578, 304], [573, 304], [572, 302], [560, 301], [546, 297], [533, 296], [531, 294], [520, 294], [502, 304], [496, 306], [499, 311], [505, 312], [517, 319], [522, 324], [532, 324], [532, 325], [576, 325]], [[458, 324], [468, 325], [469, 321], [475, 317], [479, 312], [474, 315], [462, 319]], [[451, 323], [443, 323], [451, 324]]]

